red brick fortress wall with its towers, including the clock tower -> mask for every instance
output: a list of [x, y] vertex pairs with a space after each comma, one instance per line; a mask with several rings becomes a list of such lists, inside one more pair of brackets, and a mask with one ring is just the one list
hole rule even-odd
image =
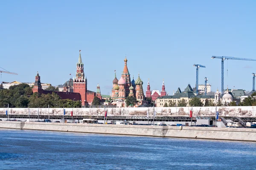
[[[97, 85], [97, 93], [94, 91], [87, 90], [87, 78], [84, 76], [84, 63], [81, 58], [81, 50], [79, 50], [79, 59], [76, 63], [76, 77], [73, 79], [73, 91], [68, 92], [67, 82], [64, 85], [64, 91], [54, 91], [61, 99], [71, 99], [71, 100], [80, 100], [82, 106], [91, 104], [93, 102], [94, 96], [97, 96], [102, 100], [102, 96], [100, 93], [99, 84]], [[40, 76], [37, 74], [35, 76], [35, 84], [33, 88], [33, 92], [38, 92], [40, 94], [48, 94], [52, 93], [52, 91], [45, 91], [42, 89]]]

